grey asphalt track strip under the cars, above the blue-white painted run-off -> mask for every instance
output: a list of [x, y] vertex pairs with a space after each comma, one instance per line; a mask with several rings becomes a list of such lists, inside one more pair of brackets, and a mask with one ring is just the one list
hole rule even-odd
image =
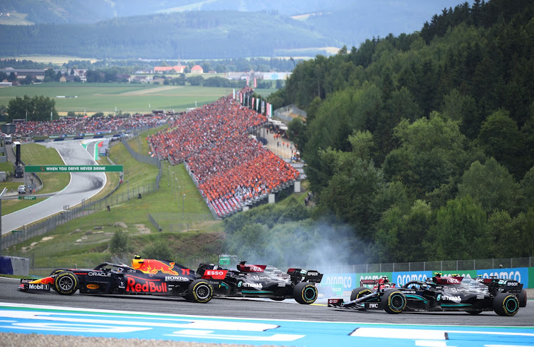
[[519, 309], [512, 317], [498, 316], [492, 311], [471, 316], [466, 312], [403, 312], [349, 311], [326, 306], [325, 299], [316, 304], [300, 305], [293, 299], [212, 299], [196, 304], [182, 298], [157, 296], [93, 296], [75, 293], [71, 296], [19, 291], [19, 279], [0, 278], [0, 302], [65, 306], [78, 309], [112, 309], [158, 314], [216, 316], [232, 318], [289, 319], [303, 321], [343, 321], [353, 323], [424, 324], [427, 326], [534, 326], [534, 301]]

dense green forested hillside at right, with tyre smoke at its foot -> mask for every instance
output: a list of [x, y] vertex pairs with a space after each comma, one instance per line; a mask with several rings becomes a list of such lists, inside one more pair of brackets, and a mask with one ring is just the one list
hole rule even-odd
[[307, 111], [289, 132], [314, 207], [231, 217], [229, 249], [335, 244], [345, 264], [534, 256], [533, 17], [532, 1], [477, 0], [299, 63], [268, 101]]

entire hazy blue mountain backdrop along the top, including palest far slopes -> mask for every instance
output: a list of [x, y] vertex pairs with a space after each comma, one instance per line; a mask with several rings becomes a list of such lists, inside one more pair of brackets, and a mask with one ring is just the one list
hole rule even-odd
[[2, 0], [0, 12], [12, 15], [0, 17], [0, 56], [89, 49], [99, 58], [239, 58], [303, 48], [315, 56], [327, 54], [318, 47], [412, 33], [459, 2]]

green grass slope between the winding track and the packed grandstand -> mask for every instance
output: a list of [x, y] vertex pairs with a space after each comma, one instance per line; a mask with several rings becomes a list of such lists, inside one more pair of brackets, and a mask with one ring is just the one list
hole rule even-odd
[[[147, 148], [146, 136], [147, 133], [144, 133], [139, 140], [133, 138], [130, 143], [140, 142], [140, 148]], [[31, 274], [38, 275], [46, 275], [56, 267], [93, 267], [112, 260], [108, 250], [112, 235], [127, 231], [131, 252], [125, 255], [126, 259], [142, 253], [144, 247], [158, 239], [164, 239], [174, 254], [174, 260], [186, 266], [198, 266], [199, 261], [216, 260], [217, 254], [222, 252], [222, 224], [209, 214], [183, 165], [164, 164], [159, 190], [137, 199], [133, 198], [137, 197], [137, 194], [134, 195], [135, 188], [154, 182], [157, 167], [134, 160], [122, 143], [110, 148], [110, 157], [125, 167], [125, 183], [112, 196], [125, 197], [130, 188], [132, 199], [112, 204], [110, 212], [104, 209], [59, 225], [53, 232], [6, 249], [5, 255], [34, 257], [36, 269], [31, 269]], [[179, 186], [182, 187], [180, 190]], [[113, 187], [112, 183], [110, 187]], [[182, 194], [186, 194], [184, 199]], [[156, 230], [148, 214], [157, 218], [164, 232]], [[117, 222], [125, 223], [127, 228], [115, 226]], [[182, 232], [165, 231], [170, 224], [179, 223], [184, 223]], [[149, 229], [150, 233], [144, 228]], [[186, 232], [187, 229], [189, 232]]]

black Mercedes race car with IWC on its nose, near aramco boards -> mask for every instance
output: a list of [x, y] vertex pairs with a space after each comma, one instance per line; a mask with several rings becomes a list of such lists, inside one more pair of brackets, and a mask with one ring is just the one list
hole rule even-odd
[[[364, 285], [372, 285], [373, 288]], [[383, 309], [388, 314], [402, 311], [466, 311], [480, 314], [495, 311], [499, 316], [513, 316], [526, 306], [523, 284], [511, 279], [471, 279], [459, 275], [435, 274], [426, 281], [410, 281], [404, 286], [390, 283], [386, 278], [362, 280], [353, 289], [350, 301], [328, 299], [329, 307], [355, 309]]]

